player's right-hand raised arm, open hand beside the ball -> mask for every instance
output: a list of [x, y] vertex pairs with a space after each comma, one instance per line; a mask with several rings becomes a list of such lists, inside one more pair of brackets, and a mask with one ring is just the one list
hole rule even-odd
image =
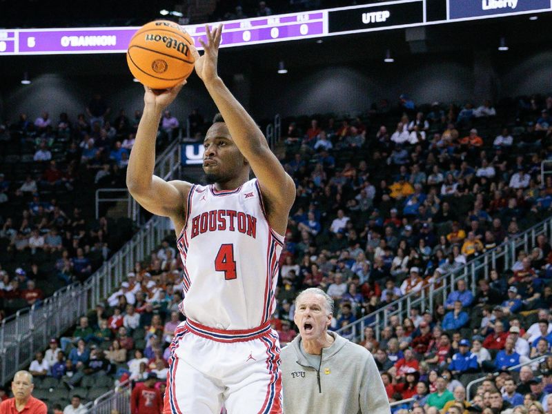
[[195, 70], [215, 101], [230, 136], [248, 160], [259, 181], [263, 199], [268, 205], [270, 224], [279, 233], [284, 233], [288, 212], [295, 200], [295, 184], [268, 147], [266, 138], [253, 118], [230, 93], [217, 74], [221, 32], [222, 26], [213, 31], [206, 26], [207, 43], [200, 39], [205, 50], [201, 57], [195, 47], [190, 48], [195, 57]]

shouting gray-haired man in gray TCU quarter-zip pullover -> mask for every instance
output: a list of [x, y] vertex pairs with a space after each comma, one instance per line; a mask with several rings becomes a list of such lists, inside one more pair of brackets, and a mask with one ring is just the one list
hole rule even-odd
[[333, 299], [309, 288], [295, 300], [297, 335], [282, 350], [284, 413], [389, 414], [372, 354], [328, 332]]

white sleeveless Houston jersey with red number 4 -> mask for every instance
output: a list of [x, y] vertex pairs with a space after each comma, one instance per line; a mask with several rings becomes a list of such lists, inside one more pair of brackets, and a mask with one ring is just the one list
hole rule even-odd
[[257, 179], [235, 190], [193, 186], [177, 239], [186, 317], [218, 329], [264, 324], [275, 306], [284, 237], [268, 225]]

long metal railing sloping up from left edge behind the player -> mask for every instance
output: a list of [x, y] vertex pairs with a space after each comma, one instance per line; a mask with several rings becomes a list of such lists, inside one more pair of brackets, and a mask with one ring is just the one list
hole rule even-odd
[[[157, 159], [155, 175], [164, 179], [177, 177], [180, 168], [178, 142], [176, 139]], [[169, 219], [152, 217], [86, 282], [66, 286], [41, 304], [21, 309], [4, 319], [0, 324], [0, 384], [6, 384], [14, 373], [28, 366], [34, 353], [43, 351], [51, 337], [59, 337], [81, 315], [119, 287], [135, 262], [144, 260], [170, 233]]]

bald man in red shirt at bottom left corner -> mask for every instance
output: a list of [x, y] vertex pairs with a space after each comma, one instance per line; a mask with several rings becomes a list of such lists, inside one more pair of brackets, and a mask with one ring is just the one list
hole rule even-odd
[[32, 375], [28, 371], [17, 371], [12, 381], [13, 398], [0, 404], [0, 414], [46, 414], [46, 404], [34, 398]]

